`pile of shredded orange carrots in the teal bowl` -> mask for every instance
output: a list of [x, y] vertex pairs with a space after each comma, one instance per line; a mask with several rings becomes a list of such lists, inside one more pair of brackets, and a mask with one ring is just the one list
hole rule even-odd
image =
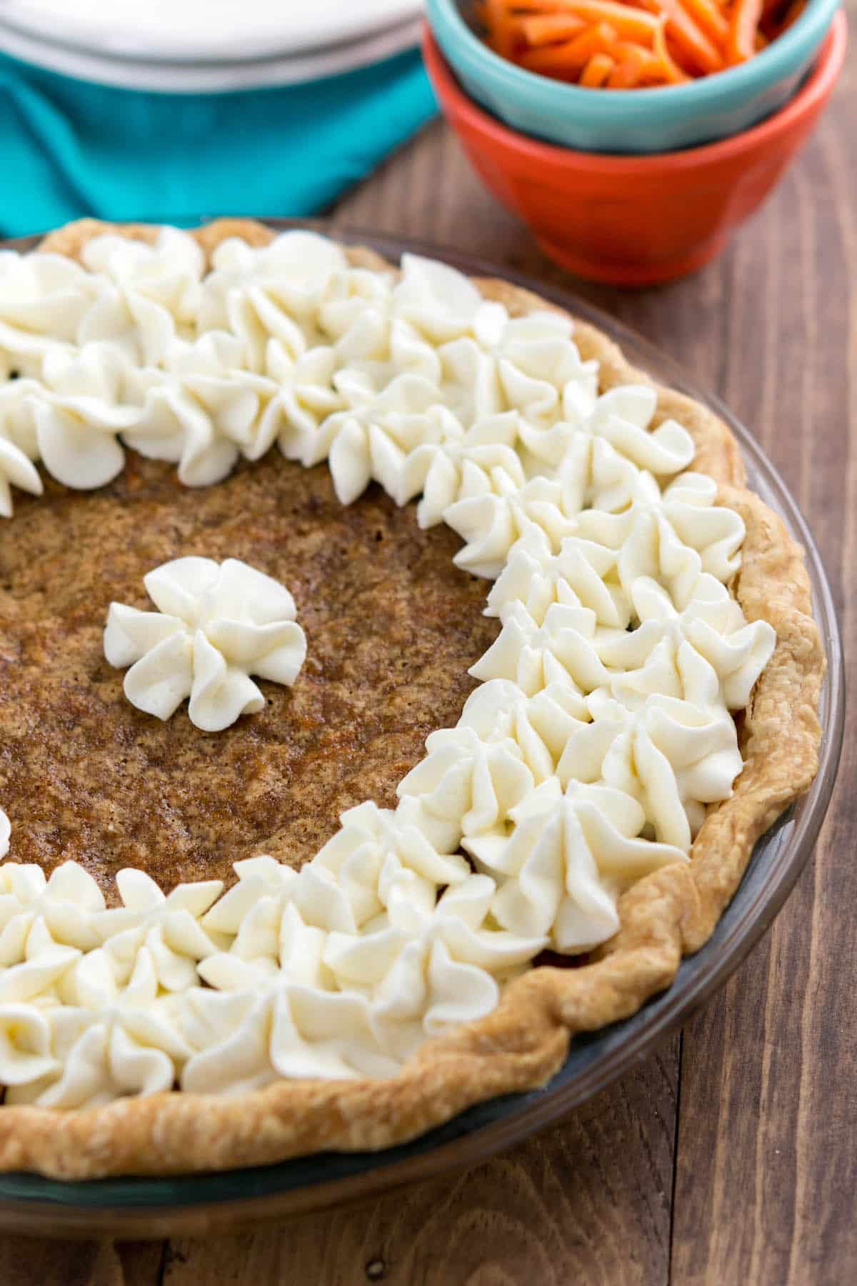
[[680, 85], [753, 58], [807, 0], [477, 0], [486, 42], [586, 89]]

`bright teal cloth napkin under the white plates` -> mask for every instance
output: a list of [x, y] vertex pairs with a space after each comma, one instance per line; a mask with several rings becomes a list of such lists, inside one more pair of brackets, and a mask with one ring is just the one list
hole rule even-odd
[[0, 54], [0, 235], [93, 215], [311, 215], [436, 112], [416, 50], [306, 85], [154, 94]]

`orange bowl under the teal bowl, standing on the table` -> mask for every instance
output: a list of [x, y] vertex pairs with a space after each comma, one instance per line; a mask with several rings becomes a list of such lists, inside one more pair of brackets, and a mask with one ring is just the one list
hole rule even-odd
[[423, 55], [474, 170], [529, 224], [545, 253], [578, 276], [648, 285], [702, 267], [761, 206], [830, 98], [845, 44], [838, 13], [815, 68], [773, 116], [718, 143], [633, 157], [518, 134], [463, 93], [428, 27]]

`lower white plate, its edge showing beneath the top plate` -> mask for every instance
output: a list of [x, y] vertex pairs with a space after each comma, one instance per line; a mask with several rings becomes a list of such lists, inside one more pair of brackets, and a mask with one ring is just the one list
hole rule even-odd
[[364, 40], [316, 50], [296, 57], [258, 58], [253, 62], [146, 62], [103, 57], [68, 45], [54, 44], [44, 36], [30, 36], [6, 24], [0, 0], [0, 50], [23, 62], [35, 63], [75, 80], [117, 85], [122, 89], [154, 90], [162, 94], [209, 94], [225, 90], [262, 89], [278, 85], [301, 85], [342, 72], [369, 67], [392, 58], [419, 42], [420, 18], [411, 18], [396, 27]]

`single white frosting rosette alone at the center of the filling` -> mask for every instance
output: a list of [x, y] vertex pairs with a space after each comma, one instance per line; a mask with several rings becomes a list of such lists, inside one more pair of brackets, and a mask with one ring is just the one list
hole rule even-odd
[[158, 612], [110, 603], [104, 655], [131, 666], [125, 694], [168, 719], [189, 697], [191, 723], [206, 732], [254, 714], [265, 697], [251, 674], [294, 683], [306, 658], [285, 586], [236, 558], [176, 558], [144, 577]]

